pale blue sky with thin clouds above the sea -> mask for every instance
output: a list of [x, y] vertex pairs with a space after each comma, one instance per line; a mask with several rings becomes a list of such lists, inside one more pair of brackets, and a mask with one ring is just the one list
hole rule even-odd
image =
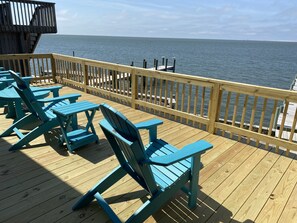
[[297, 42], [297, 0], [51, 2], [58, 34]]

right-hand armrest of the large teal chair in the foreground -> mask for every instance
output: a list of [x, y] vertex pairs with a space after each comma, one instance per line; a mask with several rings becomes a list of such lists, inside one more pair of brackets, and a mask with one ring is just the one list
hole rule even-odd
[[212, 147], [212, 144], [204, 140], [200, 140], [183, 147], [181, 150], [178, 150], [175, 153], [165, 156], [151, 157], [148, 160], [145, 160], [144, 163], [155, 164], [159, 166], [168, 166], [173, 163], [192, 157], [196, 154], [202, 154], [206, 150], [211, 149]]

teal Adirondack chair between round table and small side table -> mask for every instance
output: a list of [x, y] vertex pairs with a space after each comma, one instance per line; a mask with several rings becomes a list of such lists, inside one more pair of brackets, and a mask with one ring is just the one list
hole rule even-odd
[[[20, 78], [14, 72], [12, 72], [11, 75], [15, 80], [15, 83], [13, 83], [12, 85], [19, 93], [30, 113], [12, 124], [0, 135], [0, 137], [4, 137], [15, 133], [20, 138], [17, 143], [11, 146], [11, 148], [9, 149], [10, 151], [22, 148], [32, 140], [36, 139], [38, 136], [50, 131], [56, 126], [59, 126], [57, 116], [53, 114], [51, 109], [57, 106], [75, 103], [76, 100], [81, 96], [80, 94], [68, 94], [54, 98], [36, 99], [32, 90], [22, 78]], [[44, 104], [45, 106], [42, 107], [42, 105]], [[36, 126], [34, 126], [34, 128], [27, 134], [23, 134], [20, 131], [22, 127], [26, 126], [27, 124], [33, 123], [36, 123]], [[72, 128], [77, 128], [76, 116], [73, 116]]]

